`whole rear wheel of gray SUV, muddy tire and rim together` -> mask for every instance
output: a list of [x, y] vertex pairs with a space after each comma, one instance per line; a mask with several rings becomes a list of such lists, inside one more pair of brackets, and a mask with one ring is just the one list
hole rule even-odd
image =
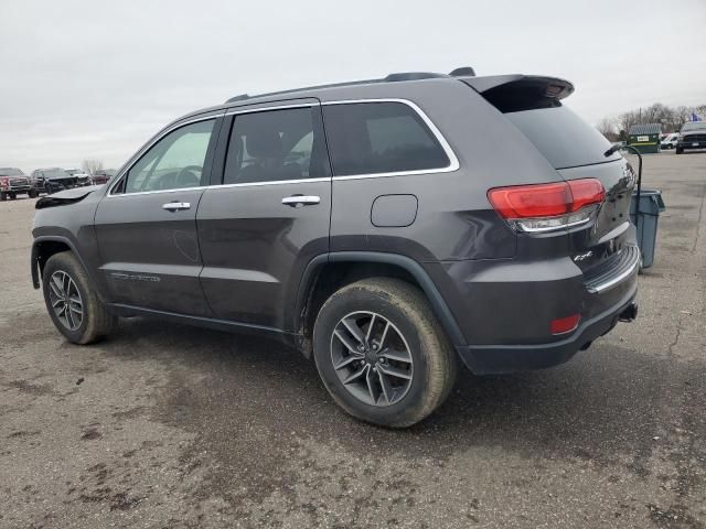
[[[349, 332], [351, 322], [355, 333]], [[370, 339], [352, 343], [361, 331]], [[317, 316], [313, 354], [333, 400], [351, 415], [387, 428], [410, 427], [435, 411], [458, 369], [456, 352], [422, 293], [393, 278], [365, 279], [331, 295]], [[344, 384], [360, 371], [364, 375]]]

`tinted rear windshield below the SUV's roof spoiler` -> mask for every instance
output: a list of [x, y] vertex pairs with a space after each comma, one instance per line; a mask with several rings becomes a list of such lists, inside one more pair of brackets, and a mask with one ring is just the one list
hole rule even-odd
[[555, 169], [601, 163], [610, 143], [603, 134], [563, 105], [504, 115], [537, 148]]

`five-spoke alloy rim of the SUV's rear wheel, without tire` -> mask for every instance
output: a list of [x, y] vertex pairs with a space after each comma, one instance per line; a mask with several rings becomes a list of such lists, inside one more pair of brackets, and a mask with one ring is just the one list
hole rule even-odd
[[411, 386], [414, 361], [407, 341], [375, 312], [354, 312], [339, 321], [331, 336], [331, 360], [343, 387], [366, 404], [394, 404]]

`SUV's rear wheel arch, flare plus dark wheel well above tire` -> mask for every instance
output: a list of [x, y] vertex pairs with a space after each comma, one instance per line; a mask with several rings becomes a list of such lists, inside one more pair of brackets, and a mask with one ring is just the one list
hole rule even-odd
[[340, 251], [317, 256], [302, 274], [293, 312], [293, 330], [298, 347], [309, 357], [313, 322], [323, 302], [335, 290], [360, 279], [397, 277], [421, 290], [435, 316], [454, 346], [466, 338], [451, 310], [426, 270], [414, 259], [398, 253], [377, 251]]

